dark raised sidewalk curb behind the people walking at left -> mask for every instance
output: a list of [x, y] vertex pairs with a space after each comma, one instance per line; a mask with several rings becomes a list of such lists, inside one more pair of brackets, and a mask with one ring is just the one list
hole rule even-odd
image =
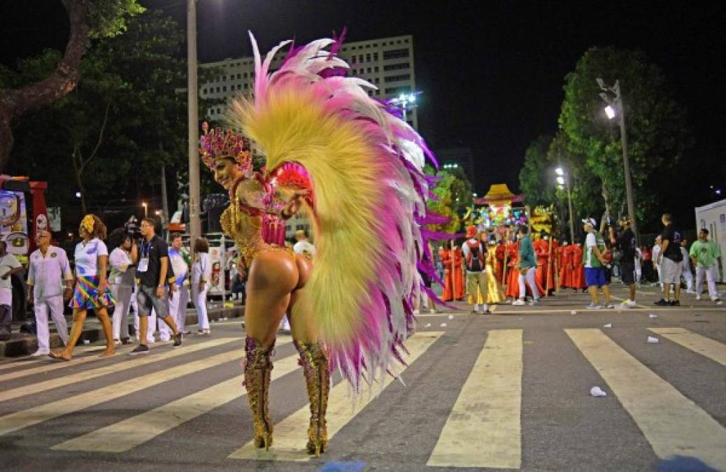
[[[219, 320], [221, 318], [241, 318], [245, 313], [245, 306], [240, 301], [233, 301], [232, 308], [229, 307], [229, 301], [227, 307], [220, 306], [219, 303], [209, 304], [207, 314], [210, 321]], [[66, 317], [68, 320], [68, 327], [73, 323], [71, 317]], [[187, 326], [197, 324], [197, 310], [193, 308], [187, 308]], [[129, 323], [129, 333], [134, 335], [134, 324]], [[78, 341], [79, 344], [83, 344], [83, 340], [87, 340], [91, 343], [103, 339], [101, 330], [101, 323], [96, 317], [91, 316], [86, 318], [86, 322], [83, 324], [83, 335]], [[60, 336], [55, 331], [54, 324], [51, 322], [51, 333], [50, 333], [50, 346], [51, 349], [62, 347]], [[14, 322], [12, 324], [12, 338], [9, 341], [0, 341], [0, 359], [3, 357], [20, 357], [33, 354], [38, 349], [38, 340], [36, 335], [28, 333], [20, 333], [20, 323]]]

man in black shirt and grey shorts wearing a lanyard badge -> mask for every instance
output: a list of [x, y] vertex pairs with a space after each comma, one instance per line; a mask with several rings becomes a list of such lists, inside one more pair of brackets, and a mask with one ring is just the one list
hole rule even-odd
[[131, 248], [131, 260], [136, 264], [139, 278], [139, 293], [136, 301], [139, 307], [139, 346], [129, 352], [131, 355], [147, 354], [146, 344], [149, 315], [153, 309], [174, 333], [174, 347], [181, 346], [181, 333], [176, 328], [174, 318], [168, 312], [166, 285], [174, 290], [174, 277], [169, 270], [169, 252], [166, 241], [156, 235], [155, 221], [144, 218], [139, 227], [142, 238]]

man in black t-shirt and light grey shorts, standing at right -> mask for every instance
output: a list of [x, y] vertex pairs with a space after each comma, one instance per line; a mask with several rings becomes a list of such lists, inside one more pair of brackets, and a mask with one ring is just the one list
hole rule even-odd
[[[661, 266], [661, 282], [663, 283], [663, 298], [656, 301], [658, 306], [680, 306], [680, 276], [683, 269], [683, 253], [681, 252], [681, 232], [675, 229], [673, 217], [664, 213], [661, 218], [663, 232], [661, 233], [661, 252], [658, 254], [658, 264]], [[671, 284], [675, 285], [673, 298]]]

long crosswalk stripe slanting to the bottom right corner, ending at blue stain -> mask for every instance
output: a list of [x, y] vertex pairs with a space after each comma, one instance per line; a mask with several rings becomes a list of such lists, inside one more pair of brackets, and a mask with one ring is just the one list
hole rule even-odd
[[658, 457], [697, 457], [726, 469], [726, 429], [598, 329], [566, 329]]

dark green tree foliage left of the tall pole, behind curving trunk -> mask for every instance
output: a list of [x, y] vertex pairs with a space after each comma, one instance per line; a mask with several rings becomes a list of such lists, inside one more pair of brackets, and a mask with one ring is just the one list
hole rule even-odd
[[[162, 166], [169, 182], [175, 171], [187, 175], [187, 66], [180, 59], [184, 31], [159, 13], [132, 17], [126, 26], [126, 33], [91, 47], [81, 62], [76, 90], [17, 120], [9, 170], [51, 182], [49, 206], [78, 203], [74, 152], [83, 159], [96, 152], [83, 169], [92, 211], [134, 208], [137, 199], [158, 197]], [[47, 75], [57, 60], [60, 54], [49, 51], [23, 61], [17, 73], [0, 77], [28, 83]], [[207, 73], [200, 70], [201, 80]], [[209, 106], [200, 100], [200, 110]], [[170, 190], [173, 209], [174, 185]]]

